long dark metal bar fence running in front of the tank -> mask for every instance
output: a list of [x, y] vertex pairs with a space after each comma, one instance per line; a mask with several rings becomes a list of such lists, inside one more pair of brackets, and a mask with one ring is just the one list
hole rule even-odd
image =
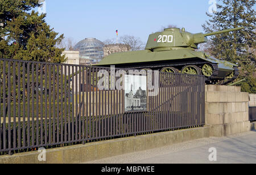
[[110, 73], [0, 59], [0, 152], [204, 125], [203, 76], [159, 73], [159, 94], [147, 97], [147, 110], [126, 113], [124, 90], [98, 89], [102, 69]]

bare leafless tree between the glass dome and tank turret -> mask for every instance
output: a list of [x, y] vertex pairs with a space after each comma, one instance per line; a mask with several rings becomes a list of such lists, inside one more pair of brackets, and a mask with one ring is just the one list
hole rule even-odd
[[125, 47], [126, 51], [138, 51], [142, 49], [142, 41], [140, 38], [136, 38], [135, 36], [125, 35], [121, 37], [121, 47]]

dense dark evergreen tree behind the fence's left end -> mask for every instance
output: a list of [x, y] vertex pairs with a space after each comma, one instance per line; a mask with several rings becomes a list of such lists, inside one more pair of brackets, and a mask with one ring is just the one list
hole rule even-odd
[[39, 7], [39, 0], [0, 1], [0, 57], [5, 59], [64, 62], [56, 48], [63, 35], [50, 28], [46, 14], [39, 15], [33, 9]]

